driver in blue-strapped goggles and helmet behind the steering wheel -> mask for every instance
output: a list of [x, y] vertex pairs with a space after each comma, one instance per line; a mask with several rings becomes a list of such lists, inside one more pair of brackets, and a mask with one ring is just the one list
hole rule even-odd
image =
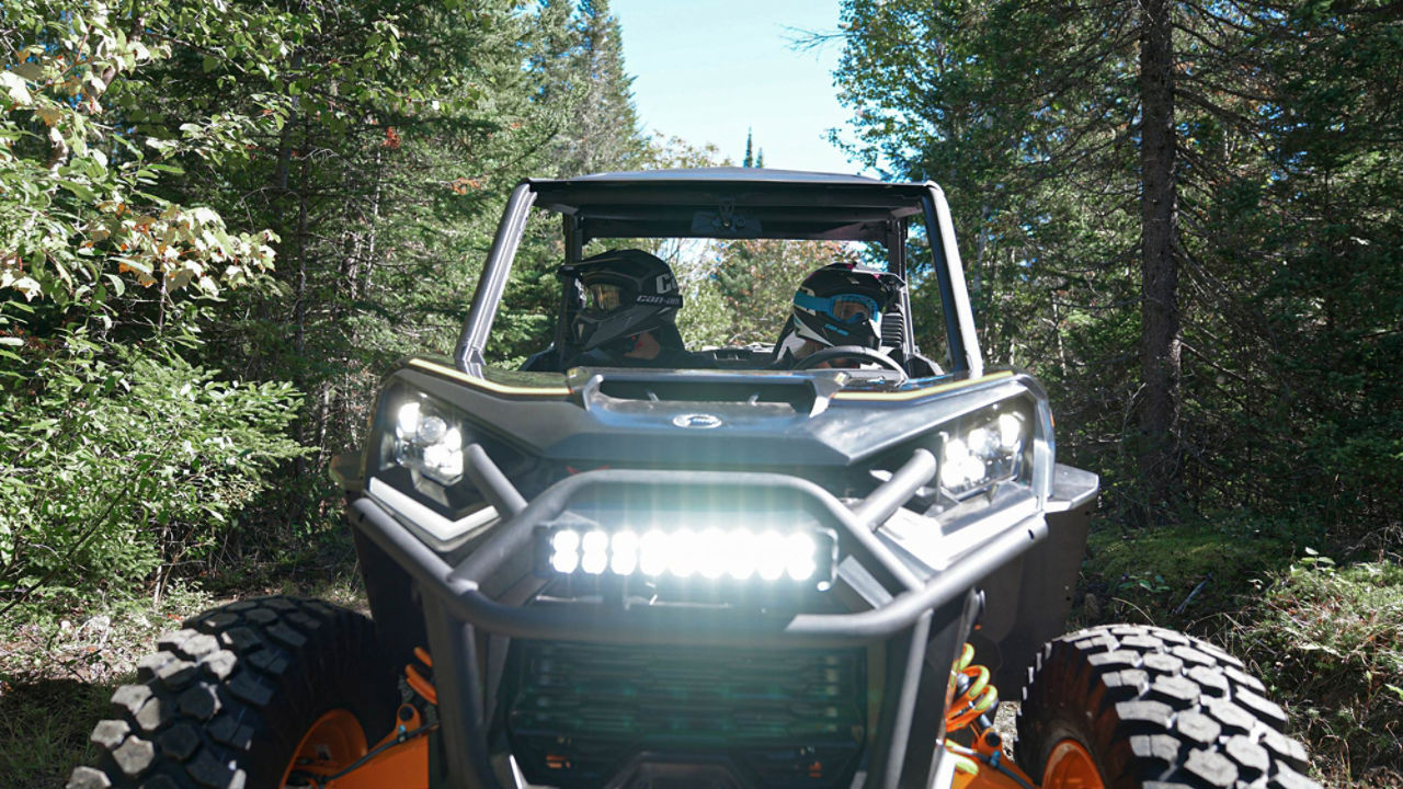
[[[794, 291], [790, 320], [774, 344], [777, 368], [791, 368], [821, 348], [881, 345], [881, 316], [901, 295], [895, 274], [852, 263], [832, 263], [814, 271]], [[857, 359], [835, 359], [856, 366]], [[831, 366], [828, 362], [818, 366]]]

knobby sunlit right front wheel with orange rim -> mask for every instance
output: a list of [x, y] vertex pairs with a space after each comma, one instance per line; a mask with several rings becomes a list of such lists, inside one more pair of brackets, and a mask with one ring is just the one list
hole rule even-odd
[[1014, 757], [1042, 789], [1320, 789], [1264, 692], [1237, 658], [1174, 630], [1078, 630], [1037, 656]]

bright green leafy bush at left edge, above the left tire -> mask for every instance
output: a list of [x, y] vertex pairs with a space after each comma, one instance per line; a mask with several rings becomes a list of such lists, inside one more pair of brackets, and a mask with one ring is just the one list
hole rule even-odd
[[28, 369], [0, 390], [4, 598], [125, 597], [198, 563], [265, 475], [303, 452], [283, 434], [288, 383], [223, 383], [83, 334], [31, 343]]

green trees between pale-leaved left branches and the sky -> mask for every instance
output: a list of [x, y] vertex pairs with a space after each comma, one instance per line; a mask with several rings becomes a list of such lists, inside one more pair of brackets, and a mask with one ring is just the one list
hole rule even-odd
[[[354, 444], [396, 358], [453, 350], [516, 181], [620, 168], [641, 140], [603, 3], [311, 3], [292, 21], [310, 32], [267, 70], [173, 58], [142, 128], [168, 133], [191, 107], [282, 119], [237, 166], [182, 159], [170, 187], [281, 237], [281, 292], [230, 296], [201, 354], [306, 392], [295, 430], [318, 468]], [[595, 100], [607, 107], [585, 107]], [[550, 234], [533, 227], [522, 244], [494, 361], [551, 340], [563, 256]]]

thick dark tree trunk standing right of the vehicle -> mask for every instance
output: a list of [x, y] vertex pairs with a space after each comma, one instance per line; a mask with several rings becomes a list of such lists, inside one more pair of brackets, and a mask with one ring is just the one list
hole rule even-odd
[[1174, 154], [1174, 51], [1170, 0], [1141, 6], [1141, 409], [1139, 470], [1146, 522], [1162, 521], [1180, 487], [1180, 317], [1174, 258], [1179, 205]]

